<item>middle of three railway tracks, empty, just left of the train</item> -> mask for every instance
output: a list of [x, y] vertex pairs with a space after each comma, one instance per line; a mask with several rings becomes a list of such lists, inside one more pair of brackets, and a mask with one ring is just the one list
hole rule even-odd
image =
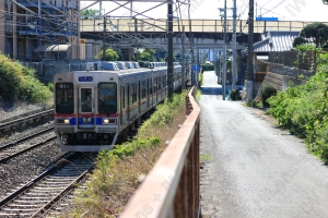
[[[5, 162], [38, 146], [42, 146], [47, 142], [54, 141], [56, 138], [56, 135], [52, 130], [54, 126], [49, 126], [32, 135], [0, 146], [0, 164]], [[34, 138], [34, 141], [32, 143], [28, 143], [27, 141], [31, 138]]]

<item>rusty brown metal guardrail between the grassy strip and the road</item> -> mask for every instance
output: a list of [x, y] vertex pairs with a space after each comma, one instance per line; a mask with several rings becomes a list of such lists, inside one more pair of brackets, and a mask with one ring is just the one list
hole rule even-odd
[[138, 187], [120, 218], [197, 218], [199, 195], [200, 108], [192, 87], [186, 96], [188, 118]]

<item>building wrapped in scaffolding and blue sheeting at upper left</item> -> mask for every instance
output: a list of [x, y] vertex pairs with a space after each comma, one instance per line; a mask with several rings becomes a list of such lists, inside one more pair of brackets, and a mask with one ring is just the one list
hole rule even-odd
[[[0, 51], [32, 62], [45, 58], [43, 52], [52, 52], [49, 46], [80, 45], [79, 10], [79, 0], [1, 0]], [[78, 48], [70, 56], [77, 53]]]

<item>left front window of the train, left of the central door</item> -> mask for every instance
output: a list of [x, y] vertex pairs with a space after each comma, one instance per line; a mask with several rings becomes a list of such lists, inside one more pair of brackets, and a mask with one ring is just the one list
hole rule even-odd
[[56, 84], [56, 112], [73, 113], [74, 112], [74, 94], [72, 83]]

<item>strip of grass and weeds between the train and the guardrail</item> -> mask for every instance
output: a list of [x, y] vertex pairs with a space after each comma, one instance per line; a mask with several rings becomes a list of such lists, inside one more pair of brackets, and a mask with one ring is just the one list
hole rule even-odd
[[165, 142], [185, 121], [186, 94], [174, 95], [159, 105], [131, 142], [99, 153], [96, 168], [86, 183], [87, 189], [78, 190], [75, 207], [67, 216], [117, 217], [122, 211], [165, 149]]

